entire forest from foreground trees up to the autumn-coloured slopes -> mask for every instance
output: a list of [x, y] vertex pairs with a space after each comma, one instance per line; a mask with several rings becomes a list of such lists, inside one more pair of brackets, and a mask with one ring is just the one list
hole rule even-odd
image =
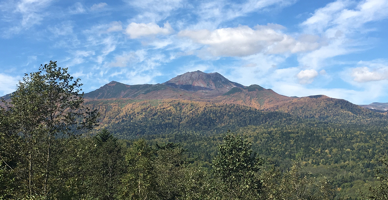
[[3, 100], [0, 199], [388, 199], [384, 114], [93, 102], [81, 86], [51, 61]]

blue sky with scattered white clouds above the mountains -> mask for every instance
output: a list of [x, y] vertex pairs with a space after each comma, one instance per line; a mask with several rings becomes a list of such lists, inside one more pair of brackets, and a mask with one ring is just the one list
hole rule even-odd
[[0, 96], [57, 60], [85, 92], [219, 72], [287, 96], [388, 102], [387, 0], [0, 2]]

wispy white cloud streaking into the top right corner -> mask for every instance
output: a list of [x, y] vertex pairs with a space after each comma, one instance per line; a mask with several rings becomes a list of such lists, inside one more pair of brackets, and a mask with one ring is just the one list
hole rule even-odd
[[325, 67], [326, 59], [363, 50], [365, 37], [373, 29], [362, 27], [369, 22], [386, 19], [387, 9], [388, 2], [385, 0], [337, 0], [315, 10], [310, 18], [301, 23], [301, 27], [305, 33], [327, 38], [327, 45], [300, 55], [300, 64], [320, 69]]

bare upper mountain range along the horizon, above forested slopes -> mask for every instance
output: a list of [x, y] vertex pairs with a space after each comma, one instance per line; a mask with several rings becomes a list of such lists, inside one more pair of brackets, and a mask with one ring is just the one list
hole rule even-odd
[[[6, 99], [9, 95], [5, 96]], [[361, 107], [347, 102], [326, 97], [324, 95], [311, 97], [287, 97], [280, 95], [271, 89], [265, 89], [253, 84], [244, 86], [229, 81], [221, 74], [204, 73], [201, 71], [186, 72], [176, 76], [162, 84], [139, 84], [127, 85], [117, 81], [111, 81], [97, 90], [85, 93], [86, 101], [107, 100], [107, 99], [132, 99], [132, 100], [190, 100], [197, 102], [238, 104], [265, 110], [281, 110], [282, 112], [293, 112], [307, 115], [313, 110], [321, 110], [321, 113], [311, 113], [311, 116], [319, 116], [322, 113], [329, 113], [325, 109], [338, 108], [338, 105], [347, 105], [361, 109]], [[341, 102], [341, 103], [338, 103]], [[334, 105], [331, 105], [334, 104]], [[374, 107], [371, 107], [373, 104]], [[372, 103], [367, 108], [383, 109], [381, 105]], [[364, 106], [364, 105], [363, 105]], [[379, 107], [380, 106], [380, 107]], [[310, 108], [306, 112], [306, 108]], [[311, 109], [315, 108], [315, 109]], [[338, 108], [338, 109], [345, 109]], [[305, 111], [301, 111], [305, 110]]]

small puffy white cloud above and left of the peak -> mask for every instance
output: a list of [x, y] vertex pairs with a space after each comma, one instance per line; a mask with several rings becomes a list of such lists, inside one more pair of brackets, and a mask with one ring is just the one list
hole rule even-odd
[[150, 35], [156, 35], [156, 34], [170, 34], [173, 32], [173, 29], [171, 25], [166, 22], [164, 24], [164, 27], [160, 27], [156, 23], [135, 23], [132, 22], [128, 25], [128, 27], [125, 30], [125, 33], [130, 36], [130, 38], [140, 38], [142, 36], [150, 36]]

